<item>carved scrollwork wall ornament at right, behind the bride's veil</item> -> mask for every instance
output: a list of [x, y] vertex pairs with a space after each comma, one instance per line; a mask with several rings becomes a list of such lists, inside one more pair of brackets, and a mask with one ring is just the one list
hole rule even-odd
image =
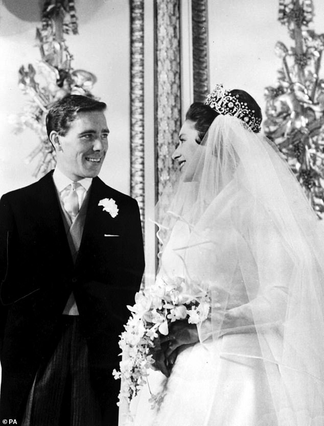
[[324, 35], [309, 27], [312, 0], [280, 0], [279, 21], [294, 40], [282, 59], [277, 84], [265, 88], [265, 134], [274, 141], [303, 186], [314, 210], [324, 218], [324, 79], [320, 78]]

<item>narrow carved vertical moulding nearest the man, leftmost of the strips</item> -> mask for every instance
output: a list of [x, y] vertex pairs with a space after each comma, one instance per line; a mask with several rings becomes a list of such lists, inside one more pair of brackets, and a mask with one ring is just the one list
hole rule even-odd
[[140, 207], [144, 234], [144, 0], [130, 1], [130, 193]]

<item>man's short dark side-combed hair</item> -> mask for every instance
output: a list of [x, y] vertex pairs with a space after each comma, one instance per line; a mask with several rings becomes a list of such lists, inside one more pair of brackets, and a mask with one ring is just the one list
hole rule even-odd
[[65, 136], [70, 125], [81, 111], [103, 111], [107, 105], [104, 102], [82, 96], [80, 94], [68, 94], [52, 105], [46, 116], [47, 134], [55, 130], [60, 136]]

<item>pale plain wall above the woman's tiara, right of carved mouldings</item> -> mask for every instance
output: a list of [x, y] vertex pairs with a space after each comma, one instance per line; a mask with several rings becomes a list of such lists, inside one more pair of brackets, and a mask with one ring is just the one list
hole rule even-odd
[[[324, 33], [324, 2], [314, 0], [314, 25]], [[211, 86], [248, 91], [264, 110], [263, 91], [276, 80], [281, 60], [274, 45], [293, 45], [279, 21], [278, 0], [209, 0]], [[321, 70], [324, 76], [324, 63]]]

